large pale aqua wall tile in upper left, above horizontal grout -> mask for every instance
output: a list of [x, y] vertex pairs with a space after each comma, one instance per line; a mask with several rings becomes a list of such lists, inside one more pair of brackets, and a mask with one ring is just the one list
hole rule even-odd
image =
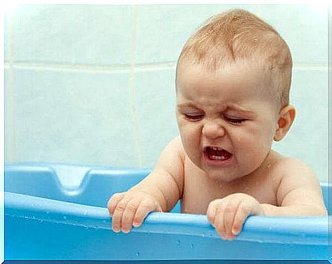
[[129, 64], [130, 5], [23, 5], [14, 13], [15, 60]]

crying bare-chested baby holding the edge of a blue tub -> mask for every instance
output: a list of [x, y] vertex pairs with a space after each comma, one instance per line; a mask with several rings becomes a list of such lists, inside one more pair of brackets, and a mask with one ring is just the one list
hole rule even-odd
[[180, 135], [151, 174], [110, 198], [112, 229], [128, 233], [179, 199], [229, 240], [248, 215], [326, 215], [310, 168], [271, 149], [294, 121], [291, 76], [288, 45], [257, 16], [231, 10], [203, 25], [177, 62]]

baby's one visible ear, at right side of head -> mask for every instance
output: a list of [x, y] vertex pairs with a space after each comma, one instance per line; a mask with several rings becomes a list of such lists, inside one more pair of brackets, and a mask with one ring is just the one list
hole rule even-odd
[[295, 108], [287, 105], [279, 113], [278, 126], [274, 134], [274, 140], [280, 141], [285, 137], [295, 118]]

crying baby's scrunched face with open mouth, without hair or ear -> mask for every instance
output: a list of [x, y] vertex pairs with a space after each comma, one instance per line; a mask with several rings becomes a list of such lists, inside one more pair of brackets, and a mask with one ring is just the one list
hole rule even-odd
[[261, 70], [229, 66], [212, 72], [181, 63], [177, 122], [191, 161], [212, 179], [232, 181], [261, 166], [277, 129], [276, 102], [264, 96]]

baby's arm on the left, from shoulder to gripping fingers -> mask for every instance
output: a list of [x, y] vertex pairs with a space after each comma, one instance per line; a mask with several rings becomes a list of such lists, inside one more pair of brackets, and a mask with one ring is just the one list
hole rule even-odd
[[166, 146], [151, 174], [127, 192], [110, 198], [107, 208], [115, 232], [128, 233], [131, 226], [140, 226], [149, 212], [173, 209], [182, 196], [183, 159], [178, 136]]

